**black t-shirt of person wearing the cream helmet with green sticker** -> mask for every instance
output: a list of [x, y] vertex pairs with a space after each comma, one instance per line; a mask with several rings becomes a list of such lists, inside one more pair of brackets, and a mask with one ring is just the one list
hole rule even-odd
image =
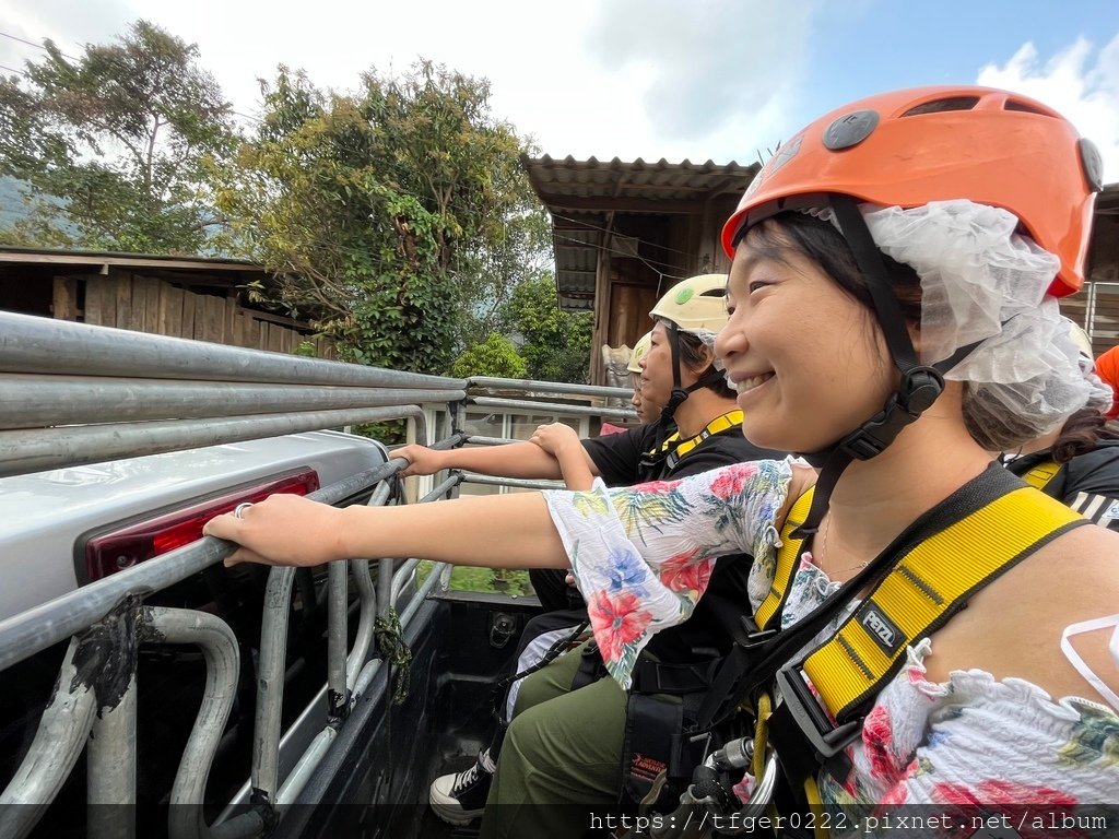
[[[599, 469], [608, 487], [629, 487], [641, 480], [640, 460], [656, 445], [656, 425], [642, 425], [618, 434], [584, 440], [583, 447]], [[742, 436], [735, 425], [700, 442], [687, 452], [673, 469], [652, 479], [679, 479], [707, 472], [712, 469], [743, 463], [751, 460], [781, 460], [783, 452], [759, 449]], [[752, 557], [731, 554], [720, 557], [707, 584], [707, 591], [696, 604], [692, 616], [684, 623], [655, 634], [648, 651], [660, 661], [683, 663], [712, 656], [722, 656], [731, 649], [732, 632], [739, 628], [743, 614], [750, 612], [746, 578]]]

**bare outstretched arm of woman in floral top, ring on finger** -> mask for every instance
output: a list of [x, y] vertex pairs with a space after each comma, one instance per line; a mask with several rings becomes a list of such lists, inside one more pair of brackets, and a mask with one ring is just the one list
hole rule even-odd
[[342, 509], [301, 496], [271, 496], [245, 509], [243, 518], [226, 513], [210, 519], [204, 532], [241, 545], [227, 565], [417, 557], [492, 568], [568, 566], [547, 507], [536, 492]]

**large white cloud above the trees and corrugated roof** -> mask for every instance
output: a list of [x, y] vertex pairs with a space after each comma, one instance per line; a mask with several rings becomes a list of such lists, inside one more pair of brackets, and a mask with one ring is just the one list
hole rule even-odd
[[[801, 104], [818, 0], [568, 0], [562, 13], [497, 0], [0, 0], [0, 30], [78, 54], [144, 18], [197, 44], [234, 109], [258, 111], [278, 64], [320, 87], [424, 57], [491, 83], [495, 116], [562, 157], [752, 162]], [[6, 43], [8, 41], [8, 43]], [[6, 51], [7, 50], [7, 51]], [[41, 57], [0, 38], [0, 64]]]

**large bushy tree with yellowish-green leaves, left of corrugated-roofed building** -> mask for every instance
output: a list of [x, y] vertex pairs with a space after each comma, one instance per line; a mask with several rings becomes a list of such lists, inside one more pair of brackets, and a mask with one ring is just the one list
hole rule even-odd
[[539, 247], [543, 208], [488, 83], [420, 62], [354, 94], [284, 67], [262, 89], [219, 189], [233, 242], [347, 359], [445, 373]]

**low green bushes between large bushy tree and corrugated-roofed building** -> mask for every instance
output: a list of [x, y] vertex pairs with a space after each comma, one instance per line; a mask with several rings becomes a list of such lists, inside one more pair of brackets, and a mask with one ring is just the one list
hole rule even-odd
[[590, 380], [591, 312], [561, 312], [555, 281], [544, 273], [520, 283], [505, 307], [508, 328], [518, 333], [528, 377], [542, 381]]

